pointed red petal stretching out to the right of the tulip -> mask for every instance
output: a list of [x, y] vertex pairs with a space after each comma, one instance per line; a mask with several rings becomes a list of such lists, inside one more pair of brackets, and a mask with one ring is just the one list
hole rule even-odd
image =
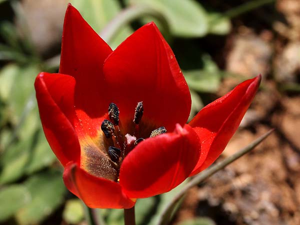
[[261, 75], [238, 84], [202, 108], [189, 122], [201, 141], [201, 156], [191, 175], [207, 168], [224, 150], [259, 86]]

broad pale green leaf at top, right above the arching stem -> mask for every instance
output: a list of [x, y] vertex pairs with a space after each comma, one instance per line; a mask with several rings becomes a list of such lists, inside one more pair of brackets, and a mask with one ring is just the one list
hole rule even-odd
[[195, 0], [129, 0], [129, 3], [147, 4], [160, 11], [176, 36], [201, 37], [208, 31], [206, 11]]

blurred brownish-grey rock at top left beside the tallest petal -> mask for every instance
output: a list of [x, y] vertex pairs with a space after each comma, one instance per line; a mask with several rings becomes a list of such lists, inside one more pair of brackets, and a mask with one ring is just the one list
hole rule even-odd
[[22, 0], [31, 40], [40, 54], [46, 53], [61, 41], [64, 13], [68, 0]]

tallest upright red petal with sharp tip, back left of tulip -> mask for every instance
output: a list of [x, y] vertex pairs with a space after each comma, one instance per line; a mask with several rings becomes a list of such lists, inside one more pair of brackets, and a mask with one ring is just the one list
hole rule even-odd
[[[102, 68], [104, 59], [111, 48], [87, 24], [80, 13], [68, 4], [62, 33], [61, 57], [59, 72], [69, 74], [76, 80], [75, 106], [78, 118], [93, 135], [91, 123], [97, 124], [93, 118], [107, 112], [108, 100]], [[87, 121], [86, 121], [87, 120]], [[91, 130], [93, 129], [93, 130]]]

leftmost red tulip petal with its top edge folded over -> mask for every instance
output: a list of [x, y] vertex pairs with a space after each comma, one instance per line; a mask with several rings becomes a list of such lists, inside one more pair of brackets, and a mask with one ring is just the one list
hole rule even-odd
[[72, 125], [75, 119], [74, 78], [41, 72], [34, 86], [41, 124], [53, 152], [62, 165], [71, 160], [78, 161], [80, 146]]

